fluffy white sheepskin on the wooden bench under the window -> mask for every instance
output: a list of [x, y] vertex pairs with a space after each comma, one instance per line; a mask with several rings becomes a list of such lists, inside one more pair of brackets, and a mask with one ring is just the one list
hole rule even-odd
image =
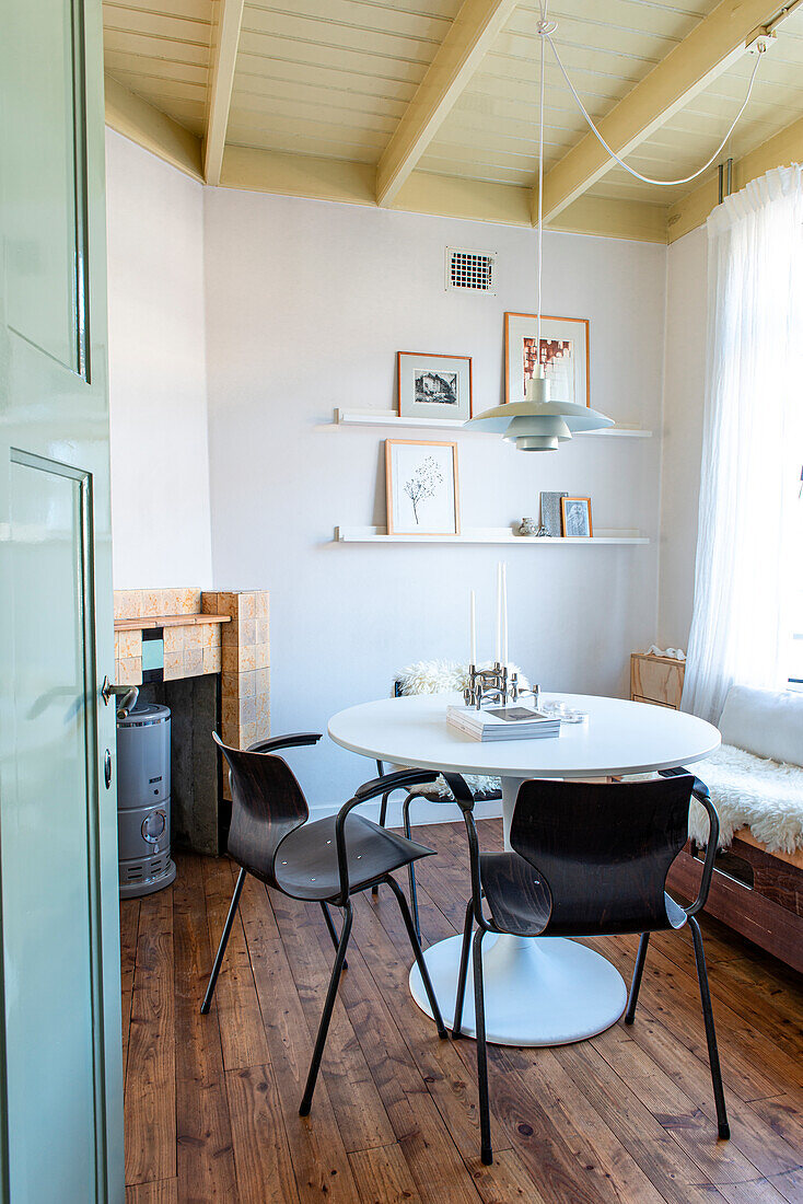
[[[712, 792], [720, 818], [720, 848], [745, 825], [769, 852], [803, 849], [803, 768], [722, 744], [693, 765], [692, 771]], [[689, 813], [689, 836], [708, 839], [708, 815], [696, 799]]]

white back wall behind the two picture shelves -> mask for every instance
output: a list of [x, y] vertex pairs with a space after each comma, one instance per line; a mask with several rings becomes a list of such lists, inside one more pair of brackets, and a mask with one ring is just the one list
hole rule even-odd
[[[457, 435], [464, 526], [537, 515], [539, 490], [566, 489], [591, 495], [596, 526], [640, 527], [649, 548], [332, 543], [337, 524], [384, 524], [392, 435], [338, 429], [333, 407], [391, 407], [398, 349], [472, 355], [476, 407], [496, 405], [502, 315], [536, 303], [535, 234], [228, 189], [207, 190], [205, 231], [214, 583], [271, 591], [273, 731], [325, 731], [406, 663], [465, 657], [472, 586], [490, 653], [502, 554], [526, 672], [626, 695], [628, 654], [656, 633], [659, 437], [525, 455]], [[498, 295], [447, 294], [447, 246], [498, 250]], [[592, 405], [660, 431], [666, 248], [548, 235], [544, 253], [547, 311], [591, 319]], [[372, 771], [329, 742], [303, 761], [318, 804]]]

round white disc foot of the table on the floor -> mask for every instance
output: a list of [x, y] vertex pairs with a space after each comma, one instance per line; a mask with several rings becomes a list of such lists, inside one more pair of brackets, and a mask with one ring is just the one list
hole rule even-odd
[[[451, 1028], [462, 937], [449, 937], [426, 950], [432, 986]], [[627, 1003], [619, 970], [575, 940], [561, 937], [496, 937], [483, 940], [486, 1038], [496, 1045], [566, 1045], [596, 1037], [615, 1025]], [[409, 988], [431, 1016], [421, 975], [413, 966]], [[462, 1032], [476, 1035], [474, 985], [468, 964]]]

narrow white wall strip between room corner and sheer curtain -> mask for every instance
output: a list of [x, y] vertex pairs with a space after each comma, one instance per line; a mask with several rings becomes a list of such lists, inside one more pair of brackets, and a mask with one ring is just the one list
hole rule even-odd
[[705, 389], [705, 228], [673, 243], [667, 262], [659, 643], [687, 648], [695, 591]]

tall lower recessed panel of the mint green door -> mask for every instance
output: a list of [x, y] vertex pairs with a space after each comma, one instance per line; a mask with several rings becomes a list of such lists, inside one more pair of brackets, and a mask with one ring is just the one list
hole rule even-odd
[[[102, 1090], [88, 874], [87, 488], [66, 466], [18, 459], [11, 465], [17, 789], [0, 804], [10, 1194], [91, 1200]], [[71, 1084], [66, 1114], [59, 1093], [42, 1090], [54, 1066]]]

